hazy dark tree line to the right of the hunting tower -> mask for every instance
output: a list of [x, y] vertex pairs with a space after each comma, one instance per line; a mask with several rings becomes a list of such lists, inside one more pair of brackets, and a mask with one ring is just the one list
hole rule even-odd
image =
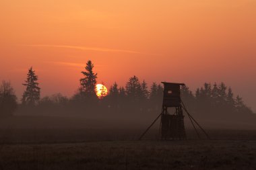
[[187, 108], [201, 118], [225, 119], [251, 116], [253, 112], [247, 107], [242, 97], [234, 96], [231, 87], [222, 83], [204, 83], [197, 88], [195, 94], [187, 86], [181, 87], [181, 96]]

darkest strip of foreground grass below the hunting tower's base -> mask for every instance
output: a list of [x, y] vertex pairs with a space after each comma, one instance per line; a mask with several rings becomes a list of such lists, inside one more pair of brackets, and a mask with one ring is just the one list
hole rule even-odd
[[1, 169], [255, 169], [247, 140], [5, 144]]

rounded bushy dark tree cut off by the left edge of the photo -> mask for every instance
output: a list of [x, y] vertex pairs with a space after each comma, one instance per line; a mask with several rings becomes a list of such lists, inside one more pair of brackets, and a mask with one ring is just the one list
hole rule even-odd
[[11, 84], [3, 81], [0, 86], [0, 116], [11, 116], [17, 105], [17, 97]]

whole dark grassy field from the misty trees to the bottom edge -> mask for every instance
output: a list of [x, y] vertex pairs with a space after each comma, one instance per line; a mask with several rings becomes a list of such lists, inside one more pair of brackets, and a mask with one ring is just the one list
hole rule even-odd
[[158, 140], [158, 124], [16, 116], [0, 121], [0, 169], [256, 169], [256, 130]]

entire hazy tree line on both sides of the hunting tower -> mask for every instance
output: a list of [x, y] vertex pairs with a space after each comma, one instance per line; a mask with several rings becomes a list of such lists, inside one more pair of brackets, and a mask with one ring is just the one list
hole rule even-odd
[[[161, 112], [163, 87], [161, 84], [149, 85], [140, 81], [135, 75], [130, 77], [125, 87], [114, 83], [106, 97], [97, 97], [95, 87], [97, 73], [91, 60], [86, 63], [83, 77], [79, 80], [77, 92], [72, 97], [61, 93], [40, 97], [38, 76], [32, 67], [28, 70], [24, 85], [22, 103], [18, 105], [17, 97], [9, 82], [3, 81], [0, 88], [1, 116], [10, 116], [15, 109], [19, 112], [42, 114], [119, 114], [147, 115]], [[106, 93], [102, 90], [102, 93]], [[239, 96], [234, 97], [231, 87], [224, 83], [205, 83], [193, 93], [189, 87], [181, 87], [181, 97], [187, 108], [202, 118], [243, 116], [253, 114]], [[19, 106], [19, 107], [18, 107]]]

